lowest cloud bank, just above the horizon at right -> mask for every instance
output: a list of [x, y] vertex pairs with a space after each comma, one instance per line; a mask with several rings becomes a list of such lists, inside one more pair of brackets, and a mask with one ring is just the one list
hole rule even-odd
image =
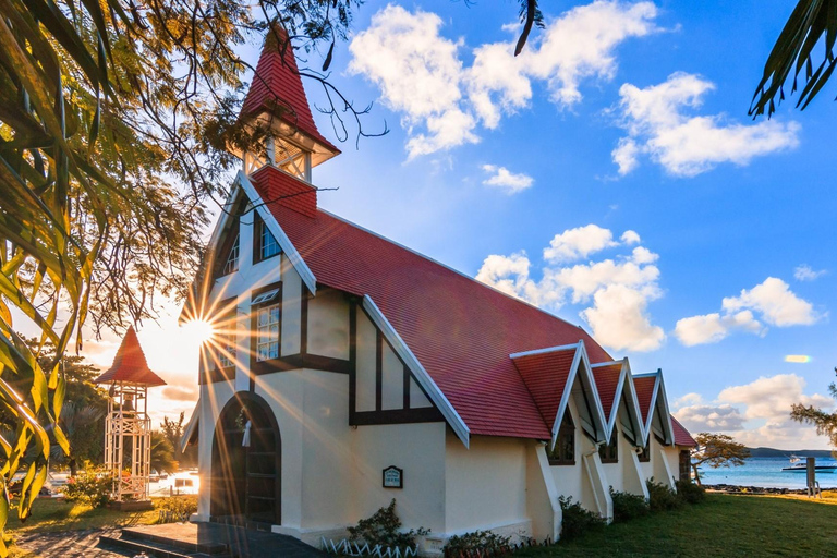
[[728, 433], [748, 446], [785, 449], [823, 446], [824, 438], [816, 436], [814, 427], [790, 418], [793, 403], [826, 411], [834, 407], [828, 397], [806, 395], [805, 387], [804, 378], [796, 374], [762, 376], [749, 384], [723, 389], [712, 403], [695, 398], [692, 404], [681, 407], [674, 414], [692, 433]]

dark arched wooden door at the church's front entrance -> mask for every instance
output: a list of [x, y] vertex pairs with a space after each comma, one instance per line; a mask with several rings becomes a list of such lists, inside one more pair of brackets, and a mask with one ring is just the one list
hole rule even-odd
[[279, 425], [267, 402], [255, 393], [235, 393], [215, 427], [215, 520], [281, 524], [281, 448]]

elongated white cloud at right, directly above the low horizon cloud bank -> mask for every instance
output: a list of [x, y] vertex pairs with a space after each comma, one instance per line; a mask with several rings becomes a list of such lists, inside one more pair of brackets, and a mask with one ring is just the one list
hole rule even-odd
[[[755, 315], [759, 315], [759, 318]], [[721, 312], [691, 316], [677, 322], [675, 335], [687, 347], [716, 343], [733, 331], [764, 336], [763, 323], [776, 327], [808, 326], [822, 318], [813, 305], [797, 296], [788, 283], [768, 277], [738, 296], [721, 301]]]

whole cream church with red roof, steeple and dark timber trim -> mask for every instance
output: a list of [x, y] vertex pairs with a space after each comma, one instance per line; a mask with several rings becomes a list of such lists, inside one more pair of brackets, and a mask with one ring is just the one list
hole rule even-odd
[[184, 436], [193, 519], [316, 545], [395, 498], [437, 553], [475, 530], [558, 538], [561, 496], [612, 518], [611, 486], [675, 487], [694, 441], [659, 371], [317, 206], [312, 169], [339, 151], [281, 51], [242, 112], [268, 147], [243, 154], [183, 313], [217, 331]]

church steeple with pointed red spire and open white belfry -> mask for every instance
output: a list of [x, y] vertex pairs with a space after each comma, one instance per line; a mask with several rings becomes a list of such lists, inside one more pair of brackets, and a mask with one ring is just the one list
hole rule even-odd
[[247, 174], [269, 163], [310, 183], [313, 167], [340, 154], [314, 123], [293, 47], [280, 25], [267, 32], [239, 118], [269, 130], [266, 154], [243, 154]]

